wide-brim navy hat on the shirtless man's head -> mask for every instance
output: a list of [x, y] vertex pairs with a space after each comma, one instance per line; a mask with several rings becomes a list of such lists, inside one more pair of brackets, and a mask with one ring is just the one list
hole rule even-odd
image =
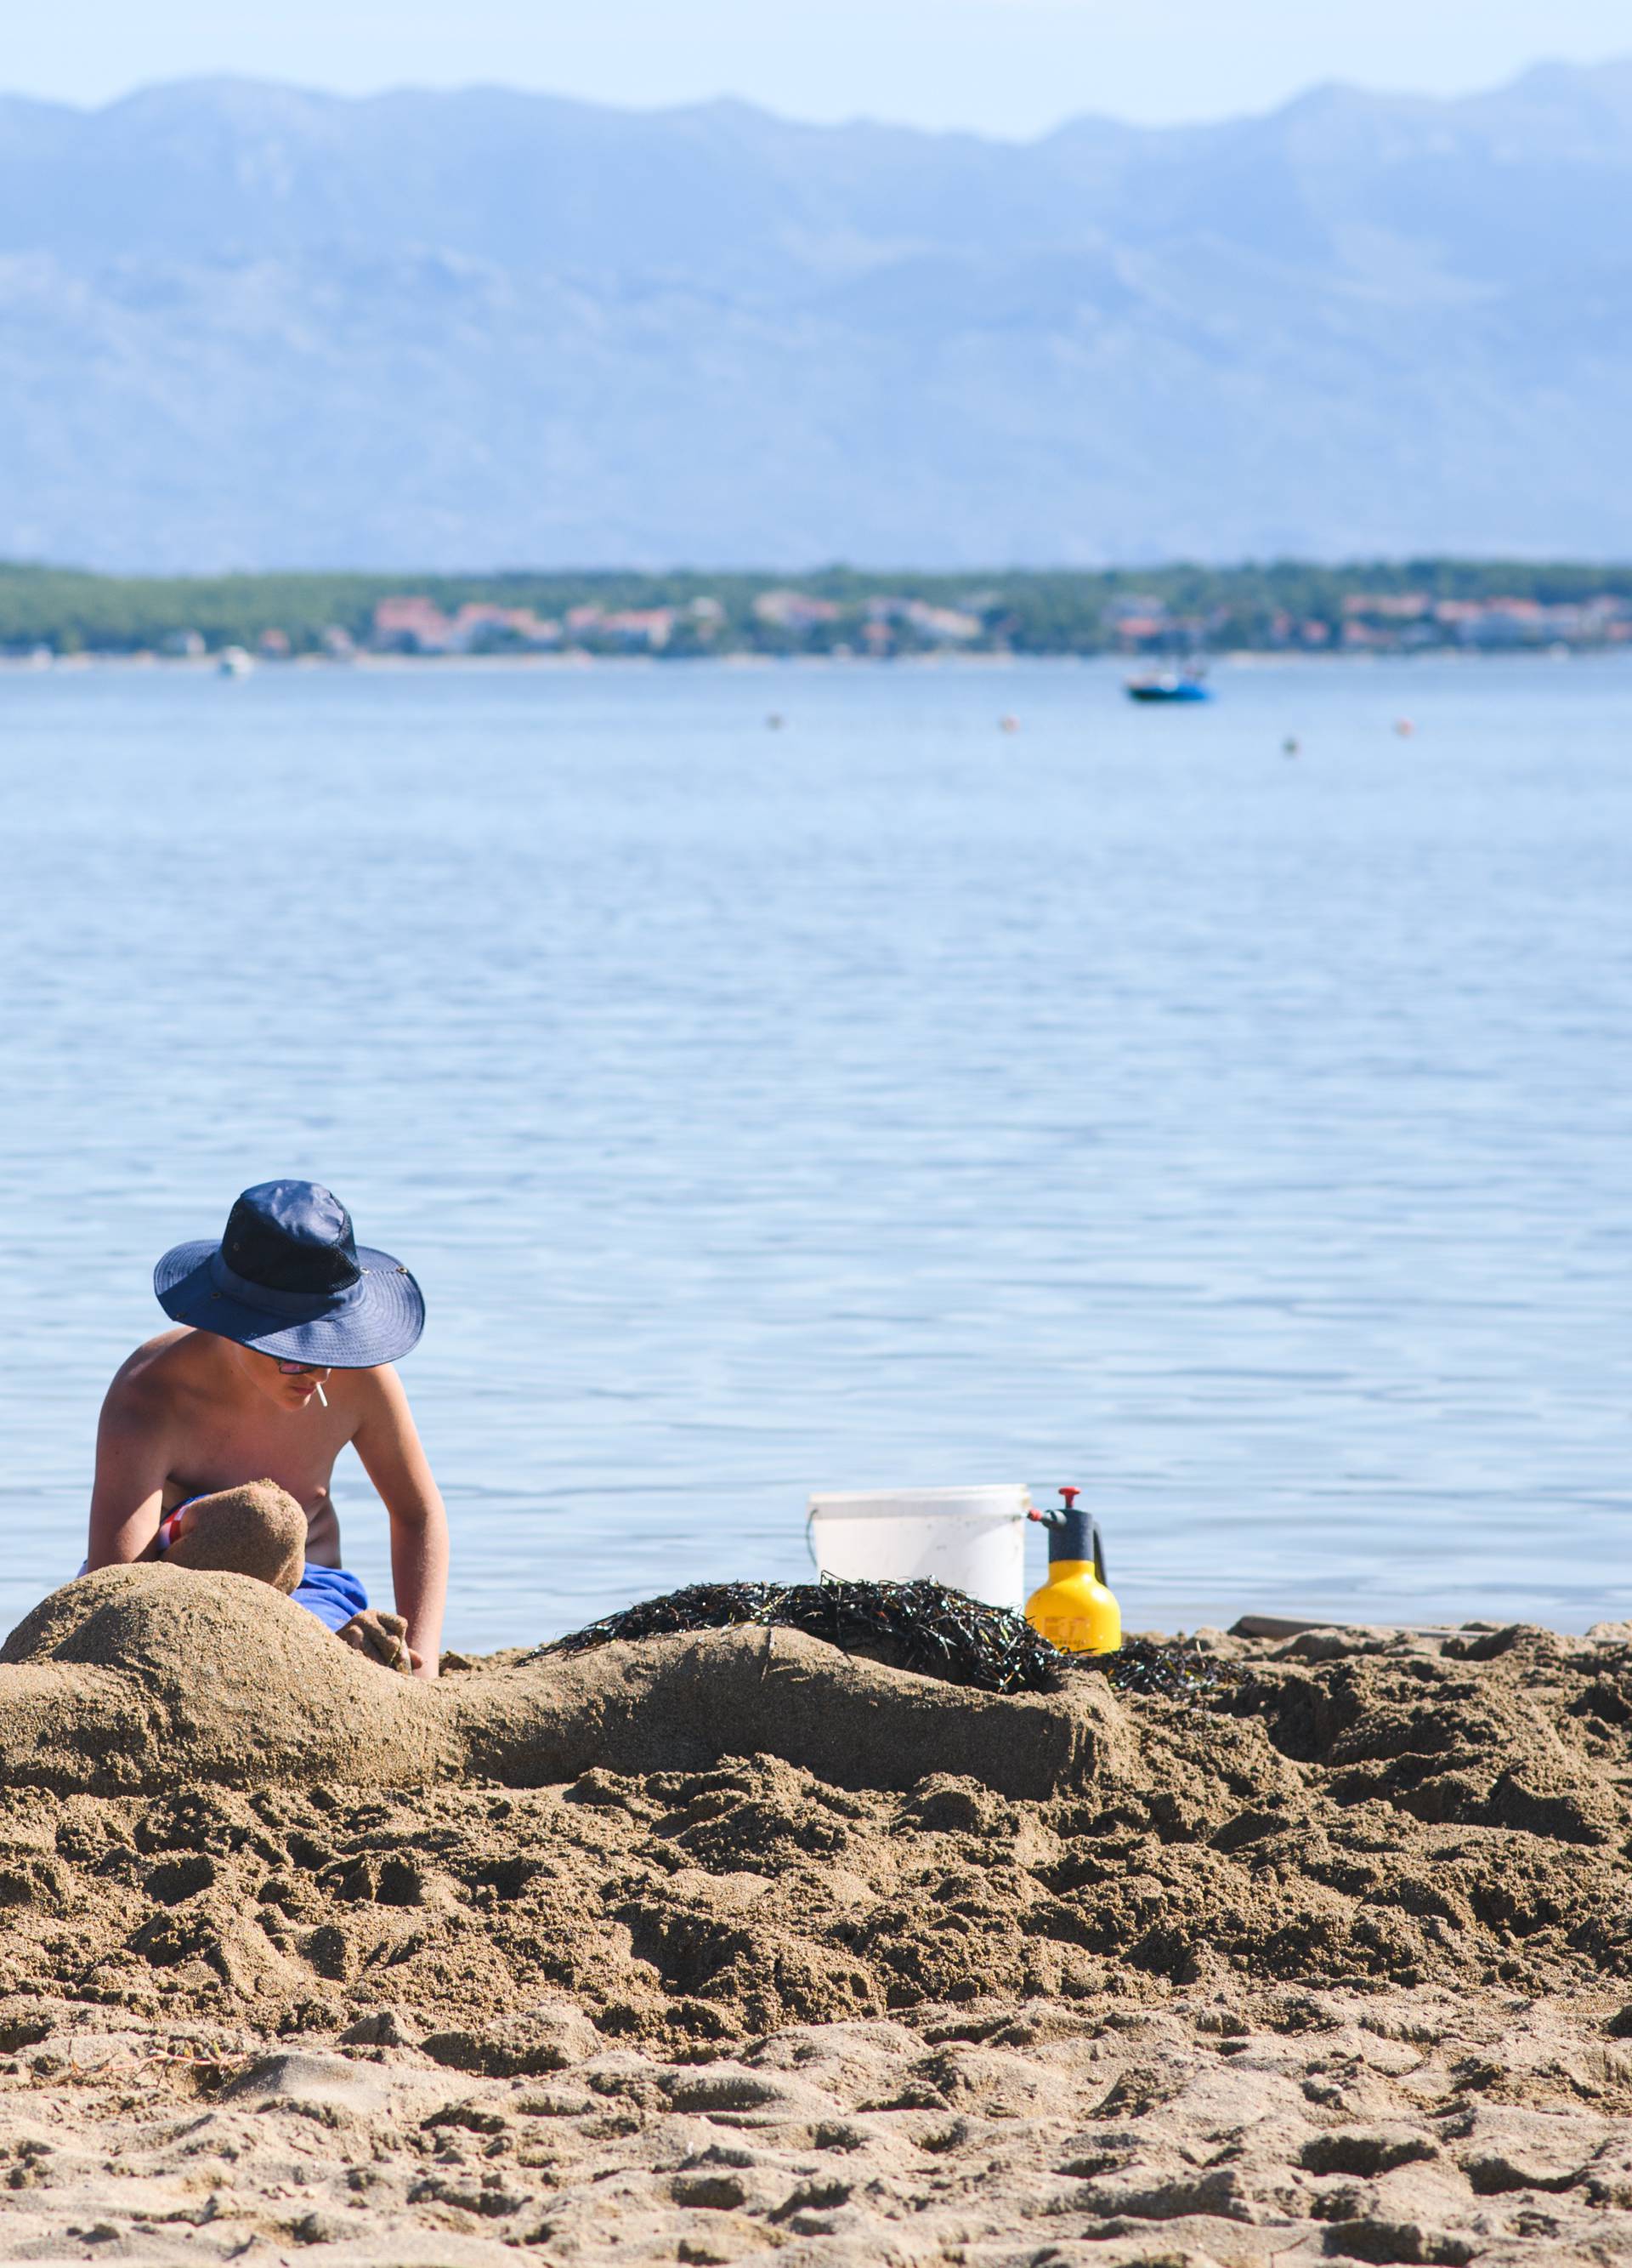
[[358, 1245], [345, 1204], [317, 1182], [247, 1188], [224, 1236], [165, 1252], [154, 1290], [175, 1322], [326, 1370], [397, 1363], [424, 1331], [415, 1279]]

